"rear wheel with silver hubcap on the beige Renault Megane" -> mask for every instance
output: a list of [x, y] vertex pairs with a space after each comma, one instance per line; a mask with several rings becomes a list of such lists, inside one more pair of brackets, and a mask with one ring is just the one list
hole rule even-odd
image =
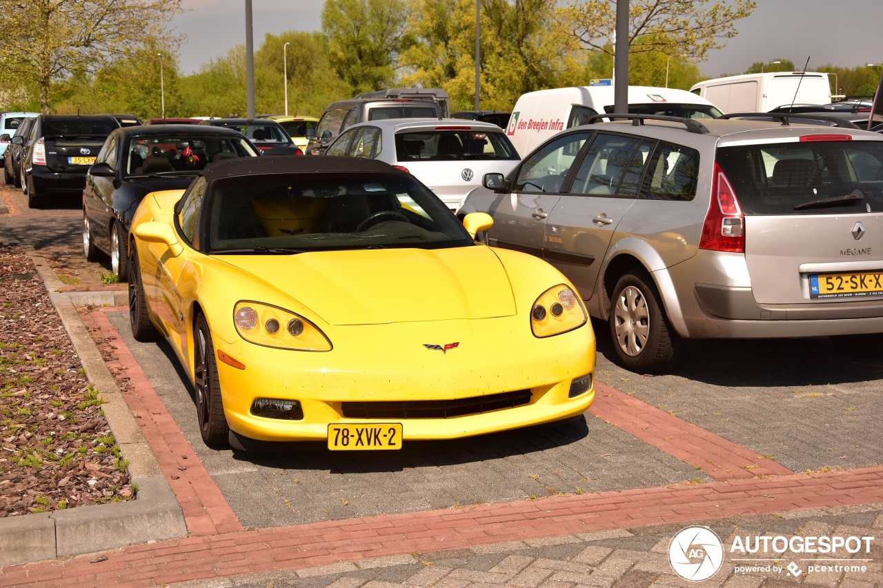
[[683, 342], [668, 324], [645, 272], [625, 274], [616, 283], [608, 322], [616, 356], [625, 368], [660, 373], [675, 363]]

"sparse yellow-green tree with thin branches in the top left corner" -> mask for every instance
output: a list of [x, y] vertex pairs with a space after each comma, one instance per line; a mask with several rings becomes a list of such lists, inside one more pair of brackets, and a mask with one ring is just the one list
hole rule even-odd
[[49, 114], [54, 82], [94, 73], [145, 44], [176, 48], [177, 38], [165, 26], [180, 11], [181, 0], [4, 2], [0, 85], [33, 79], [40, 109]]

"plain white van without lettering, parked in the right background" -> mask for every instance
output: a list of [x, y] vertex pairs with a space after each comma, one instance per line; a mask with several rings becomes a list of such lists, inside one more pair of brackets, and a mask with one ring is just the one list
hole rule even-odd
[[694, 84], [690, 91], [727, 113], [769, 112], [792, 102], [831, 102], [831, 85], [827, 74], [821, 72], [746, 73], [706, 79]]

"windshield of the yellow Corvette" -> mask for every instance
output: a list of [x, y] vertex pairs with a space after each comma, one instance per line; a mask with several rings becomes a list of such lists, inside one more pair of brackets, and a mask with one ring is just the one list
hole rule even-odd
[[404, 174], [267, 174], [215, 180], [212, 253], [472, 245], [448, 207]]

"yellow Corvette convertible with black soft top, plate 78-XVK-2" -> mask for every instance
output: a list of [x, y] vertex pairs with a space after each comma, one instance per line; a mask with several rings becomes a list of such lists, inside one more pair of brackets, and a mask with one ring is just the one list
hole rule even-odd
[[140, 203], [132, 333], [174, 348], [211, 447], [400, 449], [575, 417], [594, 398], [582, 300], [476, 243], [492, 222], [382, 162], [218, 162]]

